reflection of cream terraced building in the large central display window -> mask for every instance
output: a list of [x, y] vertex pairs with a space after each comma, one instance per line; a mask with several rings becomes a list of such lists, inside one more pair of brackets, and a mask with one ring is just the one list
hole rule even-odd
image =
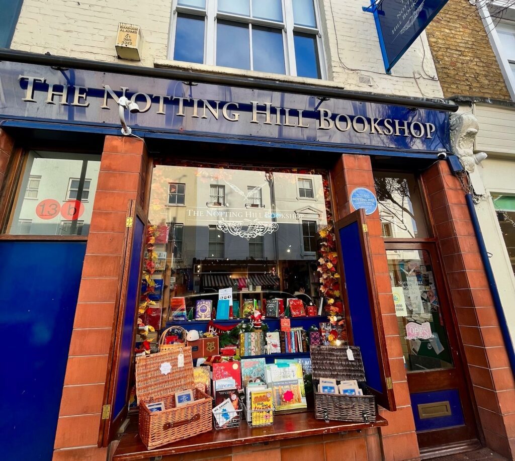
[[306, 263], [318, 259], [318, 230], [327, 225], [321, 175], [157, 166], [149, 220], [168, 225], [168, 265], [187, 272], [190, 286], [227, 282], [196, 280], [207, 272], [249, 284], [249, 274], [273, 273], [277, 286], [314, 291], [316, 266]]

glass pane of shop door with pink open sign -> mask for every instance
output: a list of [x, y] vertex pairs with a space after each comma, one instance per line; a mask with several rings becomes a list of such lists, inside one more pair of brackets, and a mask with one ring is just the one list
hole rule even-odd
[[387, 250], [407, 371], [452, 368], [451, 349], [426, 250]]

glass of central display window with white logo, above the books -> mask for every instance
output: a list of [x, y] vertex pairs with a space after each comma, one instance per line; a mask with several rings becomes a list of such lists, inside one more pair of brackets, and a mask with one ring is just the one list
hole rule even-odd
[[[148, 217], [159, 234], [152, 276], [165, 287], [156, 305], [184, 297], [193, 309], [205, 298], [215, 309], [218, 290], [230, 288], [239, 308], [252, 298], [264, 310], [267, 299], [282, 298], [286, 306], [302, 287], [306, 308], [318, 307], [319, 231], [328, 224], [323, 178], [311, 170], [303, 176], [305, 196], [313, 198], [306, 204], [288, 169], [156, 165]], [[179, 184], [188, 191], [184, 206], [169, 206], [170, 185]]]

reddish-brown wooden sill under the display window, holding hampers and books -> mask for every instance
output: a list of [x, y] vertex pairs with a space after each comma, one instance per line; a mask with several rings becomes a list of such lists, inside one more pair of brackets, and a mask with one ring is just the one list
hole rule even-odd
[[273, 440], [307, 437], [310, 435], [331, 434], [335, 432], [359, 431], [362, 429], [386, 426], [388, 422], [377, 416], [375, 422], [359, 423], [346, 421], [324, 422], [315, 419], [313, 412], [276, 415], [274, 424], [261, 428], [249, 428], [245, 420], [239, 428], [213, 429], [211, 432], [179, 440], [174, 444], [147, 450], [138, 435], [137, 419], [131, 420], [127, 431], [122, 435], [114, 452], [113, 461], [131, 461], [152, 456], [166, 456], [200, 450], [249, 445]]

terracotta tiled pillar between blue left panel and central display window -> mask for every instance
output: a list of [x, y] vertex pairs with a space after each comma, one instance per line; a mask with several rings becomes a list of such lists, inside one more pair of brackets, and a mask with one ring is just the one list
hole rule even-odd
[[[143, 205], [147, 153], [136, 138], [107, 136], [100, 161], [54, 460], [105, 460], [96, 448], [129, 200]], [[80, 447], [80, 448], [79, 448]]]

